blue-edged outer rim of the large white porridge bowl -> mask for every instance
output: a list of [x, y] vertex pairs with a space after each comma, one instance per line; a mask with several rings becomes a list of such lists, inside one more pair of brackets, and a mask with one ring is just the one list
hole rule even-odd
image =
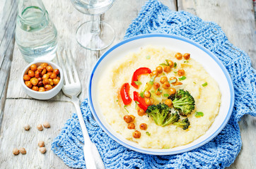
[[[94, 106], [93, 106], [93, 101], [91, 99], [91, 86], [92, 86], [92, 80], [93, 80], [93, 75], [95, 73], [95, 70], [98, 68], [98, 65], [100, 64], [101, 61], [103, 61], [103, 59], [105, 58], [105, 56], [107, 56], [108, 54], [110, 54], [110, 52], [112, 52], [113, 50], [115, 50], [117, 47], [122, 46], [123, 44], [127, 44], [128, 42], [132, 42], [136, 39], [144, 39], [144, 38], [150, 38], [150, 37], [165, 37], [165, 38], [171, 38], [171, 39], [178, 39], [181, 40], [183, 42], [187, 42], [189, 44], [192, 44], [194, 46], [196, 46], [197, 48], [201, 49], [202, 51], [204, 51], [206, 54], [208, 54], [209, 56], [211, 56], [211, 58], [214, 59], [214, 61], [219, 65], [219, 67], [221, 68], [221, 70], [223, 71], [227, 81], [228, 81], [228, 86], [230, 89], [230, 93], [231, 93], [231, 103], [229, 105], [228, 108], [228, 114], [226, 115], [225, 120], [223, 121], [223, 123], [221, 124], [221, 126], [213, 133], [211, 134], [211, 136], [207, 137], [206, 139], [204, 139], [202, 142], [199, 142], [198, 144], [195, 144], [194, 146], [190, 146], [186, 149], [181, 149], [181, 150], [177, 150], [177, 151], [148, 151], [148, 150], [144, 150], [144, 149], [138, 149], [132, 145], [129, 145], [127, 143], [122, 142], [122, 140], [118, 139], [117, 137], [115, 137], [114, 134], [112, 134], [110, 131], [107, 130], [107, 128], [103, 125], [103, 123], [101, 123], [100, 119], [98, 118], [97, 113], [95, 112]], [[137, 35], [135, 37], [131, 37], [129, 39], [124, 39], [122, 42], [115, 44], [115, 46], [112, 46], [109, 50], [107, 50], [105, 52], [105, 54], [103, 54], [103, 56], [100, 57], [100, 59], [97, 61], [97, 63], [95, 63], [95, 66], [91, 72], [90, 78], [89, 78], [89, 82], [88, 82], [88, 101], [89, 101], [89, 106], [91, 108], [91, 112], [93, 114], [93, 117], [95, 118], [95, 120], [97, 121], [98, 125], [100, 125], [100, 127], [107, 133], [108, 136], [110, 136], [112, 139], [114, 139], [116, 142], [118, 142], [119, 144], [122, 144], [122, 146], [127, 147], [128, 149], [132, 149], [134, 151], [138, 151], [144, 154], [151, 154], [151, 155], [171, 155], [171, 154], [180, 154], [180, 153], [184, 153], [186, 151], [191, 151], [193, 149], [197, 149], [199, 146], [202, 146], [204, 144], [206, 144], [207, 142], [211, 141], [211, 139], [214, 139], [214, 137], [216, 137], [217, 134], [219, 134], [219, 132], [221, 132], [221, 130], [223, 130], [223, 127], [225, 127], [225, 125], [228, 123], [229, 118], [231, 117], [231, 113], [233, 111], [233, 105], [234, 105], [234, 89], [233, 89], [233, 82], [231, 80], [231, 77], [228, 73], [228, 70], [226, 70], [225, 66], [223, 65], [223, 63], [221, 63], [221, 61], [219, 60], [219, 58], [217, 58], [214, 54], [211, 53], [211, 51], [209, 51], [208, 49], [206, 49], [204, 46], [202, 46], [201, 44], [198, 44], [197, 42], [194, 42], [190, 39], [187, 39], [185, 37], [179, 37], [177, 35], [168, 35], [168, 34], [146, 34], [146, 35]]]

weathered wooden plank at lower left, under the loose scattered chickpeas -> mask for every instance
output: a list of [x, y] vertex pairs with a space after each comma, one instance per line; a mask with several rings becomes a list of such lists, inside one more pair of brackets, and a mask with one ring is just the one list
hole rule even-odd
[[[30, 99], [7, 99], [0, 136], [0, 168], [69, 168], [51, 150], [64, 123], [74, 112], [73, 104], [65, 101], [34, 101]], [[45, 121], [51, 127], [42, 131], [37, 125]], [[23, 129], [30, 125], [29, 131]], [[41, 154], [37, 143], [45, 142], [47, 152]], [[13, 148], [24, 147], [27, 154], [14, 156]]]

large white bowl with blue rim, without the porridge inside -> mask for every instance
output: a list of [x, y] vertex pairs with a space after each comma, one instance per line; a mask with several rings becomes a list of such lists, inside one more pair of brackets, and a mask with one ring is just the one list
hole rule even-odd
[[[201, 63], [204, 69], [216, 80], [219, 84], [221, 91], [221, 106], [219, 108], [219, 114], [216, 116], [214, 123], [209, 127], [204, 135], [194, 140], [190, 144], [184, 146], [177, 146], [172, 149], [146, 149], [136, 142], [129, 141], [122, 137], [121, 134], [115, 132], [112, 127], [107, 123], [103, 113], [100, 111], [100, 105], [97, 101], [97, 85], [101, 74], [112, 62], [122, 59], [127, 56], [130, 52], [138, 51], [141, 46], [156, 45], [163, 46], [173, 51], [179, 51], [180, 53], [190, 53], [194, 60]], [[149, 34], [139, 35], [112, 46], [111, 49], [105, 52], [100, 57], [98, 62], [95, 64], [89, 82], [88, 82], [88, 100], [91, 107], [93, 117], [98, 122], [98, 125], [116, 142], [126, 146], [134, 151], [139, 151], [144, 154], [154, 155], [170, 155], [180, 154], [185, 151], [196, 149], [209, 142], [211, 139], [216, 137], [223, 127], [228, 123], [231, 113], [233, 111], [234, 104], [234, 89], [231, 77], [224, 65], [219, 61], [219, 58], [214, 56], [204, 46], [193, 42], [190, 39], [179, 37], [176, 35], [165, 35], [165, 34]]]

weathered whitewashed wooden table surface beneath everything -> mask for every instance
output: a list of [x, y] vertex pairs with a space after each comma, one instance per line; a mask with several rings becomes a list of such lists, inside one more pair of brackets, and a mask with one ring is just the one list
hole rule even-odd
[[[71, 6], [69, 0], [42, 0], [50, 13], [59, 33], [59, 46], [68, 46], [76, 54], [76, 66], [83, 86], [79, 98], [86, 98], [87, 81], [94, 63], [104, 51], [88, 51], [78, 45], [76, 29], [89, 20]], [[101, 20], [115, 27], [116, 38], [120, 42], [127, 27], [141, 10], [146, 0], [117, 0]], [[174, 11], [188, 11], [203, 20], [218, 23], [231, 43], [243, 49], [256, 68], [255, 17], [252, 0], [162, 0]], [[15, 44], [14, 27], [18, 1], [0, 0], [0, 168], [69, 168], [50, 150], [51, 142], [59, 134], [67, 119], [74, 113], [69, 98], [59, 92], [48, 101], [30, 98], [21, 89], [21, 70], [27, 65]], [[42, 132], [38, 124], [48, 121], [50, 129]], [[29, 124], [30, 131], [23, 130]], [[240, 121], [243, 147], [235, 163], [229, 168], [256, 168], [256, 118], [245, 115]], [[40, 154], [37, 142], [45, 141], [47, 153]], [[25, 147], [27, 154], [13, 156], [13, 148]]]

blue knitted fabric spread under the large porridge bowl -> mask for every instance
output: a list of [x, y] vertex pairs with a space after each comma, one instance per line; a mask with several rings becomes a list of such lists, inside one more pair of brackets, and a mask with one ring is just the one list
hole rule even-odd
[[[256, 115], [256, 71], [244, 51], [233, 46], [221, 27], [195, 15], [170, 11], [159, 1], [150, 0], [132, 21], [125, 38], [147, 33], [168, 33], [198, 42], [213, 52], [226, 66], [235, 88], [235, 105], [226, 127], [209, 143], [182, 154], [153, 156], [125, 148], [107, 136], [93, 120], [88, 101], [81, 104], [83, 118], [106, 168], [225, 168], [241, 149], [238, 121], [245, 114]], [[66, 121], [54, 139], [52, 151], [72, 168], [86, 168], [83, 136], [76, 113]]]

